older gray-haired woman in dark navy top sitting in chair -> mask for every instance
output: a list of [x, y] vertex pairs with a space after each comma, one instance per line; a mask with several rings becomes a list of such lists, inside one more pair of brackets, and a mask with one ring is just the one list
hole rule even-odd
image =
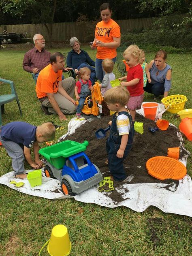
[[88, 67], [91, 70], [90, 80], [94, 85], [96, 74], [95, 74], [95, 62], [89, 56], [86, 51], [80, 49], [80, 43], [77, 37], [73, 36], [70, 38], [70, 46], [72, 50], [67, 55], [67, 66], [73, 68], [75, 73], [78, 74], [79, 68]]

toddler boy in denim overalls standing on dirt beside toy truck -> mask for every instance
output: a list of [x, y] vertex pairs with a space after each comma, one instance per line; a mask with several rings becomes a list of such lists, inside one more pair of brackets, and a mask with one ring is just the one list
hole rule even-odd
[[128, 90], [122, 86], [113, 87], [104, 95], [109, 110], [116, 111], [109, 122], [111, 129], [106, 143], [109, 171], [116, 181], [126, 181], [123, 160], [129, 154], [134, 136], [132, 117], [125, 108], [129, 97]]

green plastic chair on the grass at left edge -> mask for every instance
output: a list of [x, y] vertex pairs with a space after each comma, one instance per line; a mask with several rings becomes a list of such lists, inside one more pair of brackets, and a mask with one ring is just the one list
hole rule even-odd
[[[6, 84], [9, 83], [9, 85], [11, 86], [11, 94], [0, 95], [0, 126], [2, 126], [2, 114], [4, 114], [4, 104], [9, 103], [13, 100], [17, 100], [17, 105], [19, 107], [19, 111], [21, 115], [22, 115], [22, 111], [21, 111], [19, 98], [17, 96], [17, 92], [15, 90], [15, 85], [13, 81], [0, 78], [0, 82], [6, 83]], [[2, 86], [1, 83], [0, 83], [0, 86]]]

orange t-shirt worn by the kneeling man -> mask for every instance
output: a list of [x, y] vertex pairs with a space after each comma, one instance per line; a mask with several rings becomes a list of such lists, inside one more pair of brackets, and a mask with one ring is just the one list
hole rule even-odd
[[58, 92], [59, 81], [62, 80], [62, 70], [57, 73], [53, 71], [51, 64], [41, 70], [36, 83], [37, 98], [47, 96], [47, 93]]

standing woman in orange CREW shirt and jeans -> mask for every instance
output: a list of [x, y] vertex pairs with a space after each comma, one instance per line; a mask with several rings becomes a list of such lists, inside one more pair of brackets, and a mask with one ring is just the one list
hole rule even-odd
[[106, 58], [116, 61], [117, 47], [121, 43], [121, 33], [119, 25], [111, 19], [111, 7], [109, 3], [100, 6], [100, 14], [102, 21], [98, 22], [95, 29], [94, 42], [92, 49], [97, 48], [95, 71], [96, 77], [102, 82], [105, 75], [102, 69], [102, 61]]

